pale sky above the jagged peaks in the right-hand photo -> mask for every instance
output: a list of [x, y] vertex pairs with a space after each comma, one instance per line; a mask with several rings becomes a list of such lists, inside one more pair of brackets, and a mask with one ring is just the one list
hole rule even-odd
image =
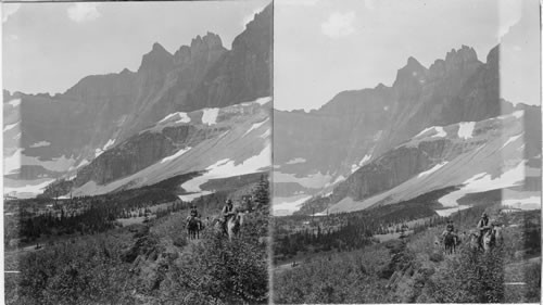
[[[519, 22], [523, 26], [516, 28], [517, 38], [507, 39], [513, 43], [508, 46], [512, 51], [502, 56], [510, 63], [515, 79], [509, 77], [502, 85], [502, 94], [513, 101], [539, 103], [541, 53], [536, 0], [276, 0], [274, 3], [276, 109], [308, 111], [320, 107], [343, 90], [374, 88], [379, 82], [391, 86], [409, 56], [429, 67], [463, 45], [473, 47], [479, 60], [485, 62], [488, 52]], [[527, 75], [526, 67], [530, 65], [534, 68], [528, 69]], [[529, 90], [527, 82], [531, 84]]]

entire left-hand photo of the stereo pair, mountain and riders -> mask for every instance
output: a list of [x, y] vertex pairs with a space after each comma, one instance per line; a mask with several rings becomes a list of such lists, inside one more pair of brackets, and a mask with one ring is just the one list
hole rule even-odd
[[2, 34], [5, 304], [268, 303], [272, 1], [3, 3]]

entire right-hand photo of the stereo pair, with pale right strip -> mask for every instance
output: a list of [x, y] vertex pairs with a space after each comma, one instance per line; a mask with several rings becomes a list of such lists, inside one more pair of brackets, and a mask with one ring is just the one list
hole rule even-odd
[[272, 301], [539, 303], [539, 1], [274, 21]]

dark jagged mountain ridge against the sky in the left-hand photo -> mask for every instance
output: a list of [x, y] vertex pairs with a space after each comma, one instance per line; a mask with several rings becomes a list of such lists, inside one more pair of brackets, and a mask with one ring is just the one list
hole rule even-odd
[[[45, 183], [84, 168], [171, 113], [223, 109], [270, 96], [272, 30], [268, 5], [235, 38], [231, 50], [207, 33], [174, 54], [154, 43], [138, 71], [88, 76], [53, 97], [4, 90], [4, 164], [14, 164], [4, 166], [5, 186]], [[124, 173], [90, 176], [105, 182], [130, 175], [174, 147], [136, 156], [136, 165]]]

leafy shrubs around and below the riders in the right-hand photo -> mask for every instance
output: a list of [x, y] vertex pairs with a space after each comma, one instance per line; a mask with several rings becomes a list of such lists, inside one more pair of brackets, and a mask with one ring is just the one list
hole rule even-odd
[[439, 239], [444, 225], [422, 221], [414, 234], [401, 239], [353, 251], [332, 249], [301, 256], [298, 266], [277, 267], [274, 302], [539, 303], [541, 212], [477, 206], [453, 214], [458, 233], [472, 230], [482, 211], [505, 226], [503, 243], [490, 252], [464, 240], [455, 254], [444, 255]]

